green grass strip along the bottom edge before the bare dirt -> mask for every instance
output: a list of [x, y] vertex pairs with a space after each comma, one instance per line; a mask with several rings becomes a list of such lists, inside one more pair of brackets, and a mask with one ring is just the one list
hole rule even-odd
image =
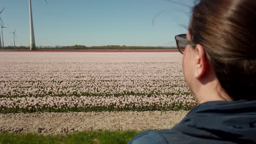
[[132, 137], [141, 133], [141, 131], [92, 131], [80, 132], [67, 135], [38, 135], [38, 134], [0, 134], [0, 144], [75, 144], [75, 143], [127, 143]]

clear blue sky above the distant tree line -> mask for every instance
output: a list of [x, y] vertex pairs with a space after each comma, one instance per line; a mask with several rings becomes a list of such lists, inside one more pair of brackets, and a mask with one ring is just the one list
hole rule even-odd
[[[189, 7], [166, 0], [32, 0], [32, 6], [37, 46], [174, 46], [190, 17]], [[30, 45], [28, 0], [1, 0], [4, 7], [5, 46], [13, 45], [15, 29], [16, 45]]]

